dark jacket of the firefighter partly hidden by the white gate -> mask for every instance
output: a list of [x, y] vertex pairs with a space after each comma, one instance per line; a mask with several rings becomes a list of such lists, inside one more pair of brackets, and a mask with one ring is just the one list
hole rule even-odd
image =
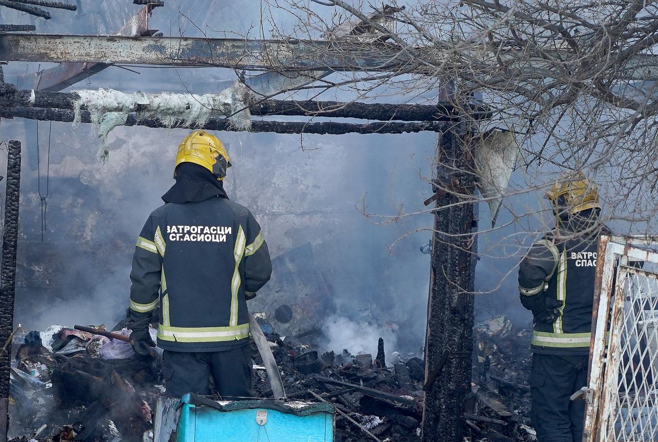
[[547, 355], [588, 355], [592, 333], [598, 237], [610, 234], [603, 224], [576, 218], [534, 243], [519, 266], [521, 303], [562, 301], [552, 324], [536, 322], [530, 347]]

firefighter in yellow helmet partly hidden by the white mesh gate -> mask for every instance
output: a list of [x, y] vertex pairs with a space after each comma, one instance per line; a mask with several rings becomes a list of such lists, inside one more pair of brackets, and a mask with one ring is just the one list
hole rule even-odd
[[580, 442], [585, 403], [570, 396], [587, 385], [597, 243], [611, 232], [584, 174], [562, 176], [545, 197], [557, 226], [519, 266], [521, 304], [534, 317], [530, 417], [539, 442]]

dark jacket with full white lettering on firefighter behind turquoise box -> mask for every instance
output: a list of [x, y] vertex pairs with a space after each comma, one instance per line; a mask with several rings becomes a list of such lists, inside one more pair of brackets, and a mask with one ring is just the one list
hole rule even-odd
[[150, 316], [160, 301], [158, 346], [165, 350], [240, 347], [249, 337], [247, 298], [271, 273], [261, 226], [245, 207], [218, 195], [166, 203], [137, 240], [130, 314]]

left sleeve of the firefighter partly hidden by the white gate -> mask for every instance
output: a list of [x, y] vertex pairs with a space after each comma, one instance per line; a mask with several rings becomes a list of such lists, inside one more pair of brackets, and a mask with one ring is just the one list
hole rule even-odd
[[555, 244], [547, 239], [541, 239], [530, 247], [526, 256], [519, 264], [519, 296], [521, 305], [527, 310], [545, 308], [544, 285], [551, 279], [557, 262], [559, 251]]

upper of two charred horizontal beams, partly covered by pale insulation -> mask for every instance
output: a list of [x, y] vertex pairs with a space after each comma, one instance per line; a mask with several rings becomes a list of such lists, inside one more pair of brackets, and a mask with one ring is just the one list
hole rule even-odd
[[[33, 95], [34, 94], [34, 95]], [[0, 97], [0, 106], [43, 107], [73, 109], [79, 99], [75, 92], [49, 92], [16, 90]], [[118, 109], [116, 109], [118, 111]], [[342, 103], [340, 101], [256, 101], [249, 111], [253, 116], [326, 116], [335, 118], [361, 118], [363, 120], [399, 121], [446, 121], [455, 120], [468, 113], [472, 118], [488, 118], [490, 112], [482, 106], [458, 109], [449, 103], [439, 105], [407, 105], [387, 103]]]

